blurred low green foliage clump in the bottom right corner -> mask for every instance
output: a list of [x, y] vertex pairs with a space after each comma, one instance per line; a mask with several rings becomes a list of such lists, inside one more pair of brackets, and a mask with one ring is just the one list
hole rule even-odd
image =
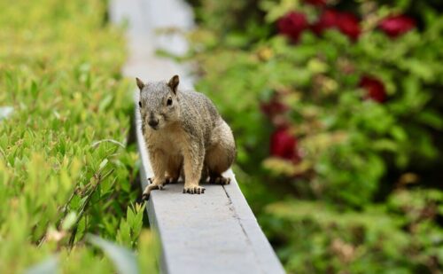
[[288, 200], [268, 206], [260, 223], [289, 272], [432, 272], [443, 259], [443, 230], [432, 222], [442, 202], [441, 192], [399, 191], [386, 206], [339, 212]]

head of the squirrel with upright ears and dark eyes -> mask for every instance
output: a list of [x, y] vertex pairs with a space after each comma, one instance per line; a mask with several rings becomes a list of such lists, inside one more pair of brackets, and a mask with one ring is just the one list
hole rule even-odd
[[142, 116], [142, 127], [162, 129], [168, 124], [178, 121], [180, 107], [178, 105], [178, 75], [174, 75], [169, 82], [147, 82], [136, 78], [140, 89], [138, 106]]

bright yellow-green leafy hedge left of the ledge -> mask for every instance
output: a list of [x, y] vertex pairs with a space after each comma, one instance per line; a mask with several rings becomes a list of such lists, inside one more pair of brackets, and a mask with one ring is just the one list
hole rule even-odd
[[131, 188], [123, 29], [107, 23], [106, 9], [0, 1], [0, 106], [13, 108], [0, 120], [1, 273], [155, 270]]

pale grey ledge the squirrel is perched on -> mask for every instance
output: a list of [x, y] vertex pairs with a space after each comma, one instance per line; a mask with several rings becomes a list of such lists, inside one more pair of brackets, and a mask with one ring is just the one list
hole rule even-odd
[[[180, 35], [155, 35], [155, 28], [186, 30], [193, 25], [191, 9], [183, 0], [111, 0], [114, 23], [128, 23], [128, 61], [123, 74], [144, 81], [167, 80], [179, 74], [183, 88], [192, 86], [186, 67], [155, 55], [155, 49], [185, 52]], [[135, 83], [134, 83], [135, 85]], [[153, 176], [140, 128], [135, 92], [136, 142], [140, 153], [142, 187]], [[231, 184], [206, 184], [204, 194], [183, 194], [182, 184], [153, 191], [147, 211], [158, 231], [163, 273], [284, 273], [240, 191], [231, 170]]]

